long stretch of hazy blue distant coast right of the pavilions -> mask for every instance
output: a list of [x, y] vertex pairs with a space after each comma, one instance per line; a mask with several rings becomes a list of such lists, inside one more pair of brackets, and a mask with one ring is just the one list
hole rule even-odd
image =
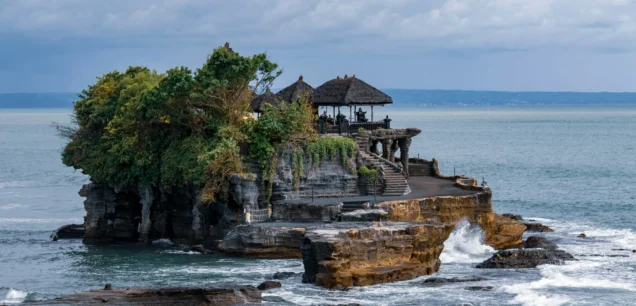
[[636, 105], [636, 93], [384, 89], [395, 107]]

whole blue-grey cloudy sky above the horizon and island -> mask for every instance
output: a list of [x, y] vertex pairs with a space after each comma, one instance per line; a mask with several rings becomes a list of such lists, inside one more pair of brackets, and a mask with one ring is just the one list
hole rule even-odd
[[225, 42], [278, 88], [636, 91], [636, 0], [0, 0], [0, 93], [195, 69]]

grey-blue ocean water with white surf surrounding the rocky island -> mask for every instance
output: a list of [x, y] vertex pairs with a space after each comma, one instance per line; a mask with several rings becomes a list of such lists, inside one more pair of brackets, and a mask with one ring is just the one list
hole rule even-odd
[[[636, 106], [376, 109], [393, 127], [417, 127], [410, 154], [436, 158], [445, 174], [482, 178], [498, 213], [554, 229], [539, 234], [578, 260], [537, 269], [482, 270], [494, 250], [459, 224], [445, 243], [437, 277], [474, 283], [405, 282], [330, 291], [300, 275], [265, 291], [269, 305], [635, 305]], [[0, 304], [114, 287], [257, 285], [275, 272], [302, 272], [301, 260], [247, 260], [151, 246], [84, 246], [50, 233], [81, 223], [88, 178], [60, 160], [52, 122], [70, 110], [0, 109]], [[585, 233], [587, 238], [577, 236]], [[528, 234], [526, 234], [528, 235]], [[535, 235], [535, 234], [533, 234]], [[625, 250], [619, 250], [625, 249]], [[472, 291], [468, 286], [492, 287]]]

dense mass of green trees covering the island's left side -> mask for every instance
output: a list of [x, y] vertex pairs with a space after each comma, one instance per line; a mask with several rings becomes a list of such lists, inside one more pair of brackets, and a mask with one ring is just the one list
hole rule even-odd
[[251, 138], [263, 123], [245, 115], [254, 93], [280, 74], [265, 54], [241, 56], [229, 47], [215, 49], [194, 73], [185, 67], [107, 73], [79, 95], [76, 126], [61, 129], [69, 138], [62, 160], [97, 182], [199, 184], [204, 199], [213, 200], [229, 176], [245, 174], [241, 146], [265, 146]]

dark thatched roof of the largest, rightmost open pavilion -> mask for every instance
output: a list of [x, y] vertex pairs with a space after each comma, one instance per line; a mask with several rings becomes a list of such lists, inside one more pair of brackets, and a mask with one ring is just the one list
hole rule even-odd
[[356, 78], [356, 76], [336, 78], [314, 90], [314, 105], [384, 105], [393, 99], [377, 88]]

